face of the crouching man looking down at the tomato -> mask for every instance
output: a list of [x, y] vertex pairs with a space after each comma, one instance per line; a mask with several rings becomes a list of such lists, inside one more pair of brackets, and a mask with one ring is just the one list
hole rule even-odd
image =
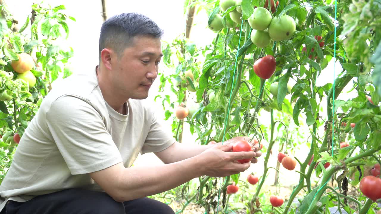
[[139, 35], [120, 57], [111, 59], [114, 87], [127, 99], [146, 99], [163, 56], [159, 38]]

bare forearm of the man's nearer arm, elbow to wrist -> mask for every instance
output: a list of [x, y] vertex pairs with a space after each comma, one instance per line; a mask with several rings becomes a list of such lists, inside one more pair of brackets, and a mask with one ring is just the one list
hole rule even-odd
[[117, 184], [118, 201], [155, 195], [202, 176], [197, 157], [165, 164], [126, 168]]

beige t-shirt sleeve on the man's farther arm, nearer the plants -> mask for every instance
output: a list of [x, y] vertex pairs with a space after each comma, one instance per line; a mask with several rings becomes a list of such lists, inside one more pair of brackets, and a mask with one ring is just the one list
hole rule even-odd
[[150, 129], [140, 153], [161, 152], [174, 142], [175, 139], [170, 132], [170, 128], [164, 126], [162, 121], [158, 120], [155, 112], [152, 111]]

